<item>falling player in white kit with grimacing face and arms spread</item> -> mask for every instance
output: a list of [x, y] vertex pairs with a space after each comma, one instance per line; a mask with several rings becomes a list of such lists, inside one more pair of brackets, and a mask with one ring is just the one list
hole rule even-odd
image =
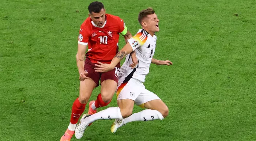
[[[116, 54], [112, 62], [95, 64], [96, 72], [108, 72], [126, 56], [125, 63], [120, 68], [116, 92], [118, 107], [110, 107], [93, 115], [84, 114], [79, 122], [80, 125], [75, 129], [76, 138], [81, 138], [87, 126], [96, 120], [116, 119], [111, 127], [111, 132], [116, 132], [117, 128], [128, 122], [163, 120], [168, 115], [169, 109], [165, 103], [143, 85], [151, 63], [172, 65], [169, 60], [153, 59], [157, 40], [155, 32], [159, 31], [159, 20], [152, 8], [140, 11], [138, 20], [142, 29], [128, 40], [129, 43]], [[136, 68], [130, 67], [132, 64], [130, 53], [133, 51], [138, 58]], [[132, 114], [134, 104], [147, 109]]]

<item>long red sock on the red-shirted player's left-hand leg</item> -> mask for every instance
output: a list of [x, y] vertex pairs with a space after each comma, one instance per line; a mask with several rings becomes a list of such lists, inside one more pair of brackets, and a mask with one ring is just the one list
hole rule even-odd
[[76, 124], [78, 122], [79, 117], [84, 112], [85, 105], [86, 104], [80, 103], [78, 98], [76, 98], [76, 100], [74, 101], [73, 106], [72, 106], [72, 113], [71, 113], [71, 118], [70, 118], [71, 124]]

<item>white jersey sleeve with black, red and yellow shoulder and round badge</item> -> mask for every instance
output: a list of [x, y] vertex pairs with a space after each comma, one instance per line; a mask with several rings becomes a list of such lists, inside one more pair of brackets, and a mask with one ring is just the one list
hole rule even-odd
[[129, 44], [134, 51], [136, 48], [141, 47], [147, 41], [147, 33], [146, 32], [139, 32], [131, 39], [128, 39]]

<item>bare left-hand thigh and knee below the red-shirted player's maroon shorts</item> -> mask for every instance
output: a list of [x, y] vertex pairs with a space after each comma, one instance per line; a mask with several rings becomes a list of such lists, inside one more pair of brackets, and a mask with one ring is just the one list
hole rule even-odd
[[83, 104], [87, 103], [96, 85], [90, 77], [84, 81], [80, 81], [78, 100]]

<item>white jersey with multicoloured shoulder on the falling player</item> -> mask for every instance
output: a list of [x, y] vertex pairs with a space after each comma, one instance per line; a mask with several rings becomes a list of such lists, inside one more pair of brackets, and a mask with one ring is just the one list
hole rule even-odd
[[155, 53], [157, 36], [151, 36], [144, 29], [140, 29], [135, 36], [128, 40], [133, 51], [136, 52], [138, 64], [136, 68], [129, 67], [132, 64], [131, 54], [127, 55], [125, 62], [120, 68], [120, 77], [118, 85], [128, 82], [131, 78], [135, 78], [142, 82], [145, 81], [146, 75], [149, 72], [151, 60]]

